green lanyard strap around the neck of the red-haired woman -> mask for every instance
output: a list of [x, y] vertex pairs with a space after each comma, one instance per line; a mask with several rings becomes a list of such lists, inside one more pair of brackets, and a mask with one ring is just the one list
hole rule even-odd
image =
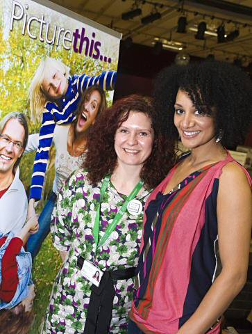
[[103, 234], [103, 237], [101, 238], [101, 240], [99, 240], [101, 202], [103, 200], [104, 193], [106, 192], [106, 189], [108, 188], [109, 182], [110, 182], [110, 175], [104, 178], [103, 184], [101, 186], [101, 197], [100, 197], [99, 207], [97, 208], [95, 221], [94, 221], [93, 236], [94, 236], [94, 242], [96, 244], [96, 251], [100, 246], [102, 246], [105, 243], [105, 241], [108, 239], [110, 234], [115, 230], [115, 227], [121, 220], [121, 217], [124, 216], [124, 212], [126, 212], [128, 202], [130, 202], [131, 200], [133, 200], [133, 198], [135, 198], [135, 196], [137, 196], [137, 193], [140, 191], [140, 189], [142, 188], [144, 184], [142, 180], [140, 180], [140, 182], [137, 183], [133, 191], [131, 191], [131, 194], [126, 198], [121, 209], [119, 209], [119, 212], [117, 212], [117, 215], [113, 219], [112, 223], [108, 225], [108, 228], [106, 229], [106, 232]]

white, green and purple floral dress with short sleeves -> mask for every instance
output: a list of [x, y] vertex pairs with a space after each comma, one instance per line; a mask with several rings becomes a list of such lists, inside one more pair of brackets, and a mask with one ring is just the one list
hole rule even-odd
[[[103, 181], [103, 180], [102, 180]], [[140, 214], [125, 212], [115, 230], [103, 246], [97, 250], [92, 229], [99, 205], [102, 182], [92, 186], [83, 170], [76, 171], [63, 186], [53, 210], [53, 244], [58, 250], [67, 251], [67, 260], [58, 273], [53, 287], [47, 317], [42, 333], [82, 334], [90, 301], [91, 283], [81, 276], [77, 266], [81, 255], [94, 262], [100, 269], [124, 269], [135, 267], [140, 252], [144, 204], [150, 192], [145, 189], [136, 196], [142, 203]], [[111, 182], [101, 203], [99, 238], [126, 200]], [[115, 281], [112, 321], [109, 333], [127, 332], [128, 311], [133, 300], [133, 279]]]

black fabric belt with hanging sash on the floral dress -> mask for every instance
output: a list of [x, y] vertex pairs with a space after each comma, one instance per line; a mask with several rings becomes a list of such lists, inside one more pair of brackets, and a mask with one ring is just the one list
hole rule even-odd
[[[85, 259], [79, 257], [77, 264], [83, 267]], [[99, 287], [91, 286], [90, 303], [87, 308], [87, 319], [83, 334], [106, 334], [112, 318], [115, 288], [113, 280], [128, 280], [135, 276], [135, 267], [104, 271]]]

